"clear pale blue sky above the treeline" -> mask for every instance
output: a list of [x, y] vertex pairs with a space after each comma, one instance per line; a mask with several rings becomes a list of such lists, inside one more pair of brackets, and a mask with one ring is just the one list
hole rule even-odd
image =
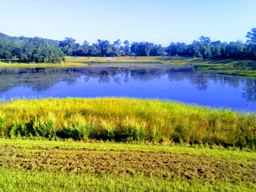
[[148, 41], [167, 46], [246, 41], [256, 27], [256, 0], [0, 0], [0, 32], [54, 40], [113, 43]]

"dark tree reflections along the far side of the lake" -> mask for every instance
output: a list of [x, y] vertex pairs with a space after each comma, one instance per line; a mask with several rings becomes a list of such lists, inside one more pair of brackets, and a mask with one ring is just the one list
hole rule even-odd
[[[152, 81], [167, 76], [170, 82], [187, 79], [197, 90], [207, 90], [208, 82], [221, 85], [229, 85], [234, 89], [242, 85], [240, 93], [246, 101], [256, 101], [256, 79], [221, 75], [210, 72], [199, 72], [192, 66], [184, 67], [55, 67], [55, 68], [1, 68], [0, 69], [0, 93], [6, 92], [17, 86], [32, 87], [37, 92], [45, 91], [54, 84], [64, 81], [69, 85], [77, 82], [82, 77], [84, 82], [92, 78], [98, 79], [98, 83], [109, 83], [111, 79], [116, 84], [128, 83], [130, 79]], [[113, 85], [114, 86], [114, 85]], [[216, 90], [217, 91], [217, 90]], [[187, 92], [189, 94], [189, 92]], [[150, 97], [150, 95], [148, 96]]]

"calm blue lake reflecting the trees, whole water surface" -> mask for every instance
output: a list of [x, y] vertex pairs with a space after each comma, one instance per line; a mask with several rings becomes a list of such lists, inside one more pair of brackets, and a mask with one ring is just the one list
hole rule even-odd
[[256, 78], [164, 64], [0, 68], [0, 99], [106, 96], [169, 99], [255, 111]]

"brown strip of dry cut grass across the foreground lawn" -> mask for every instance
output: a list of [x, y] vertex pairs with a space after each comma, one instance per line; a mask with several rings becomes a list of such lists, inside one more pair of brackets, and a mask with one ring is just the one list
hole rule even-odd
[[0, 166], [17, 169], [134, 174], [187, 179], [208, 178], [256, 182], [256, 159], [236, 163], [229, 158], [176, 154], [169, 151], [0, 145]]

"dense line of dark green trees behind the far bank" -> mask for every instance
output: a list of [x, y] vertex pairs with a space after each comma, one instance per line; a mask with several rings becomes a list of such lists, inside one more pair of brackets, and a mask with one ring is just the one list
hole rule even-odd
[[221, 42], [211, 41], [209, 37], [200, 36], [191, 44], [171, 42], [169, 46], [151, 42], [122, 43], [117, 39], [110, 44], [108, 40], [97, 39], [97, 43], [89, 45], [75, 42], [72, 37], [63, 41], [49, 40], [41, 37], [12, 37], [0, 33], [0, 58], [18, 58], [21, 62], [55, 63], [64, 60], [64, 56], [190, 56], [202, 58], [232, 58], [256, 60], [256, 28], [252, 28], [247, 35], [246, 43], [241, 41]]

